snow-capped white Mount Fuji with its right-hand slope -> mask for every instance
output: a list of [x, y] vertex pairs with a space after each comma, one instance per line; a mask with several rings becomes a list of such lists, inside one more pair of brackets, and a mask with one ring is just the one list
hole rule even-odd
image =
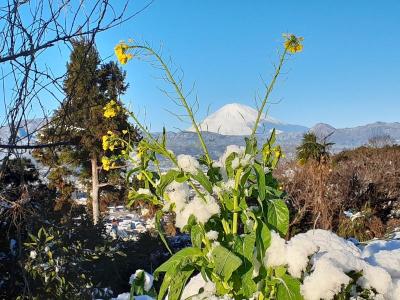
[[[216, 112], [205, 118], [199, 125], [202, 131], [219, 133], [222, 135], [249, 135], [257, 119], [257, 110], [240, 104], [226, 104]], [[285, 124], [269, 116], [263, 115], [257, 133], [269, 132], [275, 128], [278, 132], [306, 132], [307, 127]], [[188, 131], [194, 131], [191, 127]]]

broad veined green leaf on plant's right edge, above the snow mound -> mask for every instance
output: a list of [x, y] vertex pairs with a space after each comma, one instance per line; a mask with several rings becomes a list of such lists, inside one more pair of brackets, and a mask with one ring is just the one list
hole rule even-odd
[[286, 235], [289, 229], [289, 209], [285, 202], [280, 199], [268, 202], [267, 220], [273, 229]]

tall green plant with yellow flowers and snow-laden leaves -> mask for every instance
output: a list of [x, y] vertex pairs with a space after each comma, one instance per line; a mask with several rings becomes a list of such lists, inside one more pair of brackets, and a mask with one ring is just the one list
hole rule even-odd
[[[103, 138], [104, 148], [111, 151], [122, 148], [119, 156], [103, 158], [104, 168], [117, 167], [123, 155], [134, 166], [128, 172], [128, 182], [136, 176], [143, 183], [144, 188], [130, 191], [130, 203], [140, 199], [157, 207], [156, 223], [162, 238], [160, 220], [169, 212], [176, 215], [175, 226], [191, 236], [191, 247], [173, 254], [155, 270], [156, 278], [164, 274], [158, 299], [164, 299], [167, 294], [170, 300], [180, 299], [187, 281], [196, 273], [215, 285], [216, 296], [260, 300], [302, 298], [300, 282], [291, 277], [285, 267], [268, 267], [264, 263], [271, 232], [284, 236], [289, 227], [283, 192], [272, 175], [282, 157], [280, 147], [274, 146], [275, 131], [263, 145], [258, 145], [256, 139], [259, 121], [285, 59], [303, 47], [302, 38], [292, 34], [284, 38], [279, 63], [272, 81], [266, 85], [245, 147], [228, 146], [218, 160], [211, 158], [182, 84], [163, 58], [151, 47], [133, 42], [120, 43], [115, 48], [122, 64], [137, 56], [155, 58], [186, 110], [203, 150], [199, 159], [190, 155], [176, 156], [168, 149], [165, 130], [159, 137], [153, 136], [133, 113], [129, 114], [144, 134], [138, 144], [130, 142], [129, 132], [109, 132]], [[114, 102], [105, 107], [106, 117], [118, 113], [123, 112]], [[173, 167], [162, 172], [160, 157], [169, 160]], [[209, 297], [199, 293], [200, 298]]]

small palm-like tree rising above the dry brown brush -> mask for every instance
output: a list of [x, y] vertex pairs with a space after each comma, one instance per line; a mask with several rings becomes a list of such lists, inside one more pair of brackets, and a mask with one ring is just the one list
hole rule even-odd
[[301, 145], [296, 148], [297, 160], [301, 164], [305, 164], [309, 160], [317, 163], [326, 161], [329, 157], [329, 148], [334, 144], [327, 141], [330, 135], [319, 141], [315, 133], [305, 133]]

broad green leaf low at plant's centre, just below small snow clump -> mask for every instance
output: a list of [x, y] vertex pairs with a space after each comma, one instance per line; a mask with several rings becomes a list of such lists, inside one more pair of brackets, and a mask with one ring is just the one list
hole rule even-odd
[[242, 260], [225, 247], [217, 246], [211, 252], [215, 262], [215, 273], [228, 281], [232, 273], [240, 267]]

